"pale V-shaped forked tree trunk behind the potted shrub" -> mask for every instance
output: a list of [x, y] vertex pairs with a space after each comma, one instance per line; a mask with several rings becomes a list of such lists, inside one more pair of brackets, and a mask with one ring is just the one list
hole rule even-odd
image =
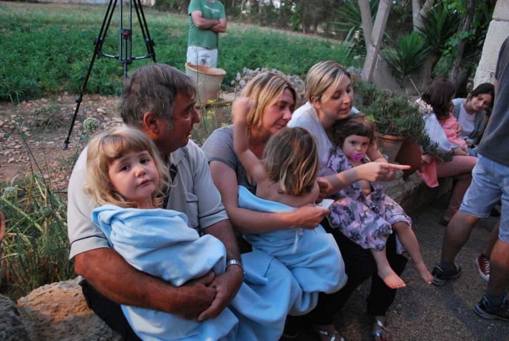
[[[369, 2], [367, 0], [359, 1], [359, 5], [361, 8], [361, 13], [363, 20], [366, 17], [366, 14], [369, 14], [370, 22], [371, 22], [371, 13], [367, 11], [365, 5], [367, 4], [367, 9], [369, 10]], [[364, 40], [366, 41], [366, 60], [364, 61], [364, 67], [362, 68], [362, 80], [364, 82], [371, 82], [373, 78], [373, 70], [375, 69], [378, 54], [380, 52], [380, 45], [382, 43], [382, 37], [385, 32], [385, 26], [387, 24], [387, 18], [389, 17], [390, 12], [390, 4], [391, 0], [380, 0], [378, 4], [377, 16], [375, 19], [375, 24], [372, 28], [372, 33], [366, 32], [364, 28], [364, 22], [362, 23], [364, 29]], [[368, 29], [369, 30], [369, 29]], [[368, 44], [367, 42], [370, 41]]]

